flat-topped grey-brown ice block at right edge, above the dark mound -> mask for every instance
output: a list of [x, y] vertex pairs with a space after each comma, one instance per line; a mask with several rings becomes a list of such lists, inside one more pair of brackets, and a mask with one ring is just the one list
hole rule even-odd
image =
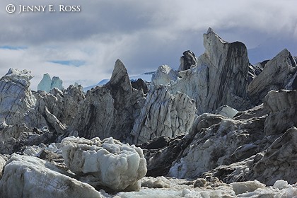
[[296, 103], [296, 90], [269, 91], [264, 98], [264, 107], [270, 111], [264, 127], [267, 136], [283, 134], [287, 129], [297, 127]]

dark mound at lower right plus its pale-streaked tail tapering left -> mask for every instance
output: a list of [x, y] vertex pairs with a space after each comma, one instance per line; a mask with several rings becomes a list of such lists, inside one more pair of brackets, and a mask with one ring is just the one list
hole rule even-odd
[[267, 144], [268, 148], [243, 161], [208, 170], [202, 177], [216, 176], [226, 183], [258, 180], [272, 186], [277, 180], [286, 180], [287, 183], [294, 184], [297, 182], [296, 137], [295, 127], [288, 129], [279, 138], [265, 136], [264, 139], [272, 142]]

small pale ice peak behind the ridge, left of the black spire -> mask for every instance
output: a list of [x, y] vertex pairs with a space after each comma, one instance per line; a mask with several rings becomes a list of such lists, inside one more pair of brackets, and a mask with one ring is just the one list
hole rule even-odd
[[170, 81], [176, 81], [178, 78], [178, 72], [174, 71], [168, 65], [161, 65], [158, 67], [158, 70], [155, 75], [153, 75], [151, 81], [153, 85], [166, 85]]

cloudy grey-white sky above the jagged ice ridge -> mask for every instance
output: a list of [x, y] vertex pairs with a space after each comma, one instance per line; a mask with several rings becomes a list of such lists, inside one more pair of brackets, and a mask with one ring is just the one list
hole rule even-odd
[[[8, 4], [16, 13], [6, 12]], [[20, 4], [47, 8], [18, 13]], [[59, 5], [81, 11], [59, 12]], [[223, 40], [245, 43], [252, 64], [284, 48], [296, 56], [296, 8], [296, 0], [1, 1], [0, 76], [11, 67], [28, 69], [35, 90], [45, 73], [62, 78], [65, 87], [91, 86], [110, 78], [116, 59], [131, 76], [162, 64], [177, 69], [185, 50], [197, 57], [204, 52], [209, 27]]]

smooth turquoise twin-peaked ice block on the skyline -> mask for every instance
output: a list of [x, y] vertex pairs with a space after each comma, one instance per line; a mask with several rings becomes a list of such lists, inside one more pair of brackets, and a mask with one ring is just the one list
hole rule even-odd
[[63, 91], [63, 81], [58, 76], [50, 78], [50, 74], [43, 74], [43, 77], [37, 85], [37, 91], [50, 92], [53, 88], [58, 88]]

